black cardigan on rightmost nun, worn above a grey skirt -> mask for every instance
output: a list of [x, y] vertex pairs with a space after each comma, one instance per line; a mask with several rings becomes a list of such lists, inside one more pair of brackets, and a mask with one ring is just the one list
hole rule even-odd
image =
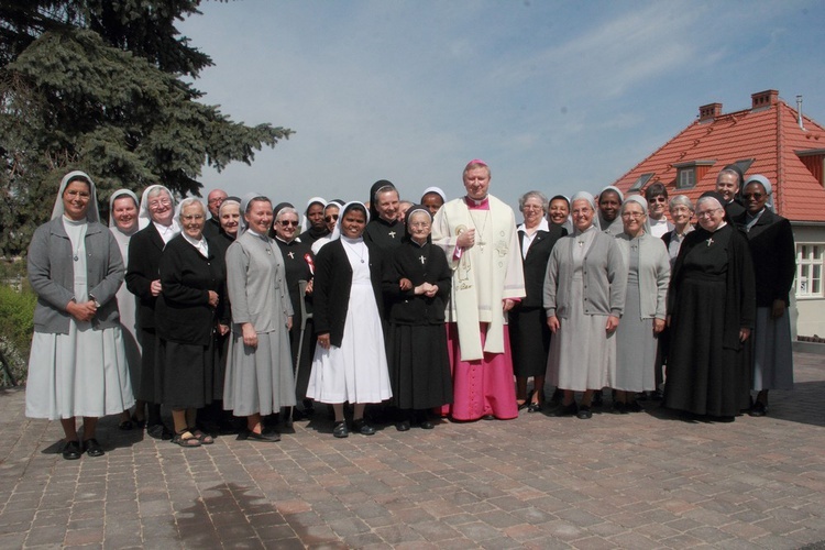
[[[747, 213], [734, 221], [745, 231]], [[765, 209], [745, 234], [754, 258], [757, 307], [771, 307], [773, 300], [783, 300], [788, 306], [789, 293], [796, 275], [796, 245], [793, 242], [791, 222]]]

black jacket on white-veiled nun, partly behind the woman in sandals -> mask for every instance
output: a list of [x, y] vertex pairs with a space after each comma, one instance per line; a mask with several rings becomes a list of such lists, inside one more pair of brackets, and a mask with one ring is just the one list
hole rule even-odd
[[161, 278], [161, 256], [164, 242], [155, 224], [138, 231], [129, 241], [129, 265], [127, 266], [127, 289], [138, 296], [138, 326], [141, 329], [155, 328], [155, 301], [152, 296], [153, 280]]

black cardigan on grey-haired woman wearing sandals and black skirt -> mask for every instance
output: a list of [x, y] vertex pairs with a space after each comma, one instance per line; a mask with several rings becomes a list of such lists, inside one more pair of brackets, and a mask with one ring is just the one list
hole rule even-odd
[[[157, 336], [170, 342], [208, 345], [222, 311], [227, 268], [213, 241], [209, 257], [177, 235], [161, 258], [163, 292], [155, 306]], [[209, 306], [209, 290], [218, 293], [218, 309]], [[228, 319], [224, 319], [228, 322]]]

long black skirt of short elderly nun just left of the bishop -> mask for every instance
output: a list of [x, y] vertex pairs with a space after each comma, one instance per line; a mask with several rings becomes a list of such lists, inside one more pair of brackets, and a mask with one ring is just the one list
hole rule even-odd
[[443, 324], [392, 324], [387, 350], [393, 405], [429, 409], [452, 403]]

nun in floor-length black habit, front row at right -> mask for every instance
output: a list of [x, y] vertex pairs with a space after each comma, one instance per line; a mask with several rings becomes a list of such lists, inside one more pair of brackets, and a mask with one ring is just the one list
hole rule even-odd
[[746, 345], [756, 318], [747, 238], [728, 223], [725, 200], [696, 202], [698, 228], [684, 238], [668, 294], [669, 408], [733, 421], [750, 405]]

